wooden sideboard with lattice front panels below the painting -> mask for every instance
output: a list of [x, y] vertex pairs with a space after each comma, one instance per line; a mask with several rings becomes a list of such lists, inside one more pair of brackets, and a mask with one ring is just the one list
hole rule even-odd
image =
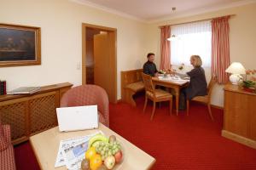
[[35, 94], [0, 96], [1, 121], [11, 126], [13, 144], [57, 126], [55, 108], [60, 106], [61, 96], [72, 86], [64, 82], [41, 87]]

